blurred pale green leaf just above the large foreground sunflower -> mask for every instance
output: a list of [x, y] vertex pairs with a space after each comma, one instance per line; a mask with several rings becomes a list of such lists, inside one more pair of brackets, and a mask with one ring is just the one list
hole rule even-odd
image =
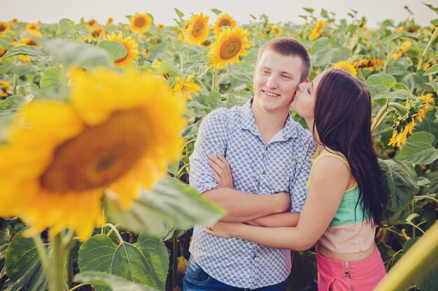
[[112, 66], [110, 54], [94, 45], [61, 39], [44, 40], [46, 49], [66, 68], [80, 66], [91, 69], [97, 66]]

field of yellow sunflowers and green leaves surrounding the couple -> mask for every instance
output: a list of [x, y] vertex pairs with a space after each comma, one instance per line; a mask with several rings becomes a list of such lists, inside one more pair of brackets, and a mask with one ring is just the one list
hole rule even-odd
[[[372, 94], [386, 220], [378, 290], [438, 290], [438, 8], [430, 26], [304, 8], [240, 25], [217, 9], [175, 24], [0, 20], [1, 290], [182, 289], [193, 225], [224, 211], [188, 187], [199, 124], [253, 95], [258, 48], [291, 36], [311, 79], [333, 67]], [[304, 121], [292, 112], [292, 117]], [[411, 250], [408, 252], [408, 249]], [[288, 290], [316, 290], [315, 249]]]

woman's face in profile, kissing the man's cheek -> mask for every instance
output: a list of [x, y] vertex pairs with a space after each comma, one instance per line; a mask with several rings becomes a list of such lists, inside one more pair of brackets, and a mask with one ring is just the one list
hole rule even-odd
[[315, 92], [324, 75], [325, 72], [320, 73], [313, 78], [312, 82], [299, 84], [292, 103], [290, 103], [290, 107], [306, 119], [306, 121], [313, 120], [316, 101]]

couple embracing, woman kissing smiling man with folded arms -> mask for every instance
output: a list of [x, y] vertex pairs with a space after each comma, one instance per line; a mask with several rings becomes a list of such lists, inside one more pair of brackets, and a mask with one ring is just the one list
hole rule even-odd
[[385, 276], [369, 91], [344, 70], [309, 82], [310, 69], [301, 43], [274, 38], [258, 52], [253, 98], [202, 121], [190, 186], [227, 216], [195, 227], [184, 290], [286, 290], [290, 250], [314, 244], [318, 290], [372, 290]]

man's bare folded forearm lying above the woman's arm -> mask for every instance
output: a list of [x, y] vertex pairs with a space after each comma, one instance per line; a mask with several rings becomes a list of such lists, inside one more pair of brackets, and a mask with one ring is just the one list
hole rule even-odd
[[278, 214], [290, 208], [288, 193], [272, 195], [255, 195], [230, 188], [217, 188], [204, 192], [212, 202], [227, 211], [220, 221], [226, 223], [241, 223], [255, 218]]

